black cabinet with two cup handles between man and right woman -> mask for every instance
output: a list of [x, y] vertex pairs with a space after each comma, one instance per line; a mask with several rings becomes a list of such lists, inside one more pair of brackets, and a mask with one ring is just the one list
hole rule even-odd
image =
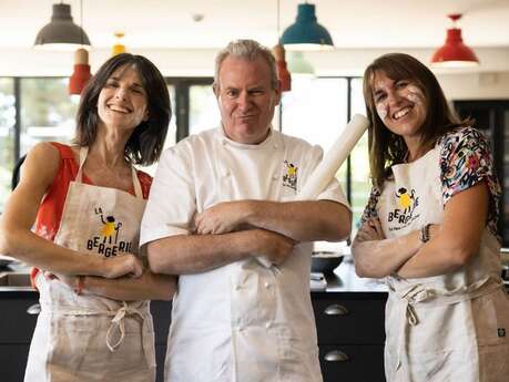
[[324, 382], [383, 382], [385, 292], [313, 292]]

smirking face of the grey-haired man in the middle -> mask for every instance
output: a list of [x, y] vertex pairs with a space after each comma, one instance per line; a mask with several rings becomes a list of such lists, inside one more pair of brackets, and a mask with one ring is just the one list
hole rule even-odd
[[271, 69], [262, 56], [253, 61], [226, 56], [214, 92], [228, 138], [244, 144], [266, 138], [281, 92], [273, 89]]

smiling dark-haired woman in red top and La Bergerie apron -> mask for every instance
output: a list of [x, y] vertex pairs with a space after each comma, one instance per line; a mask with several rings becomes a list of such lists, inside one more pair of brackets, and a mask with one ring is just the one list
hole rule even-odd
[[152, 178], [133, 165], [157, 161], [170, 117], [154, 64], [119, 54], [83, 91], [73, 145], [29, 152], [0, 230], [1, 251], [37, 267], [41, 313], [27, 382], [155, 380], [147, 300], [171, 299], [175, 280], [143, 266]]

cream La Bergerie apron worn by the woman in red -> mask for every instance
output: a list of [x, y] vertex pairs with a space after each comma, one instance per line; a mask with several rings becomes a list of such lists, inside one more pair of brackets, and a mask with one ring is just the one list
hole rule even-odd
[[[88, 148], [65, 197], [54, 242], [90, 256], [138, 252], [143, 200], [132, 169], [135, 197], [81, 183]], [[37, 277], [39, 314], [26, 382], [152, 382], [155, 350], [149, 301], [78, 296], [58, 279]]]

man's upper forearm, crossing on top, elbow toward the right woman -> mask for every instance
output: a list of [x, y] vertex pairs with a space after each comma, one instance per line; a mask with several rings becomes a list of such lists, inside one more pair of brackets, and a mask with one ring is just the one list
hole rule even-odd
[[339, 241], [350, 234], [352, 214], [336, 202], [250, 200], [250, 204], [247, 224], [296, 241]]

